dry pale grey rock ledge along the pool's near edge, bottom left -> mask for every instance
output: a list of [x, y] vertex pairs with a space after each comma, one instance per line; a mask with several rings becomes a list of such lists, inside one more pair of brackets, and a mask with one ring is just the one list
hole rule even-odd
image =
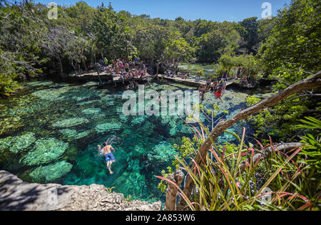
[[0, 211], [160, 211], [161, 202], [128, 202], [103, 185], [29, 184], [0, 170]]

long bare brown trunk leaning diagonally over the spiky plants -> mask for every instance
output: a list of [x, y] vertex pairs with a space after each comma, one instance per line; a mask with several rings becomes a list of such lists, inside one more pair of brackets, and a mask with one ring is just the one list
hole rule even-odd
[[[301, 80], [293, 85], [290, 85], [285, 90], [282, 90], [280, 93], [277, 93], [273, 95], [270, 98], [267, 98], [260, 103], [253, 105], [250, 108], [247, 108], [246, 110], [243, 110], [241, 112], [238, 112], [238, 114], [231, 117], [229, 120], [223, 120], [218, 122], [218, 125], [215, 126], [214, 130], [210, 132], [210, 137], [213, 140], [216, 140], [219, 135], [221, 135], [226, 129], [232, 127], [235, 125], [235, 123], [239, 122], [240, 120], [245, 120], [250, 115], [253, 115], [255, 113], [260, 112], [261, 110], [264, 110], [266, 108], [271, 107], [272, 105], [275, 105], [276, 103], [279, 103], [281, 100], [302, 92], [302, 90], [311, 90], [315, 88], [321, 87], [321, 71], [316, 73], [315, 75], [312, 75], [310, 78], [306, 78], [305, 80]], [[200, 164], [203, 159], [205, 159], [205, 155], [208, 154], [208, 150], [210, 150], [210, 147], [212, 147], [212, 142], [210, 141], [210, 138], [208, 137], [207, 140], [203, 143], [203, 145], [200, 146], [200, 150], [198, 152], [198, 155], [195, 157], [195, 164]], [[195, 167], [193, 164], [193, 167]], [[194, 168], [192, 168], [193, 171]], [[190, 194], [193, 190], [194, 183], [193, 179], [188, 176], [188, 179], [186, 181], [185, 187], [183, 192], [186, 194], [188, 198], [190, 198]], [[179, 209], [182, 209], [185, 202], [183, 199], [180, 199], [179, 203]]]

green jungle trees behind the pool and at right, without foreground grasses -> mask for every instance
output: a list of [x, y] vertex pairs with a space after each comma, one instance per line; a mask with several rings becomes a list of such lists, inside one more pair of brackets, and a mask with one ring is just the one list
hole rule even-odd
[[[57, 19], [49, 19], [50, 10], [1, 1], [0, 95], [37, 75], [92, 69], [102, 57], [141, 58], [151, 73], [186, 61], [213, 63], [216, 73], [243, 66], [249, 78], [277, 80], [275, 92], [321, 69], [317, 0], [295, 0], [272, 19], [240, 22], [151, 19], [83, 1], [58, 6]], [[320, 112], [318, 97], [295, 95], [256, 115], [258, 135], [295, 138], [297, 120]]]

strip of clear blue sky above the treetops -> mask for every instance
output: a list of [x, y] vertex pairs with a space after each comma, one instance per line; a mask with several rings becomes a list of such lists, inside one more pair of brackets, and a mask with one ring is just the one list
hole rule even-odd
[[[76, 0], [35, 0], [42, 4], [55, 2], [58, 5], [74, 5]], [[242, 21], [257, 16], [262, 18], [264, 2], [272, 6], [272, 16], [290, 0], [91, 0], [88, 5], [96, 7], [103, 2], [111, 2], [116, 11], [129, 11], [131, 14], [148, 14], [151, 18], [175, 19], [178, 16], [187, 20], [206, 19], [212, 21]]]

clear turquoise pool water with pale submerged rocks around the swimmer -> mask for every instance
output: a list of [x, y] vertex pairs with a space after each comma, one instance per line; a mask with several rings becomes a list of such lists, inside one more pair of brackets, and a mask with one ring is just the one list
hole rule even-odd
[[[177, 83], [145, 89], [193, 90]], [[96, 83], [27, 83], [24, 93], [0, 100], [0, 169], [26, 182], [103, 184], [132, 199], [163, 199], [154, 175], [170, 166], [171, 146], [192, 134], [178, 116], [124, 116], [122, 93], [97, 89]], [[245, 108], [248, 96], [227, 90], [219, 104], [230, 111], [225, 118]], [[202, 104], [210, 108], [213, 103], [218, 100], [207, 93]], [[230, 130], [241, 134], [243, 126], [252, 132], [245, 122]], [[106, 140], [116, 149], [112, 175], [97, 150]], [[218, 141], [235, 140], [225, 134]]]

